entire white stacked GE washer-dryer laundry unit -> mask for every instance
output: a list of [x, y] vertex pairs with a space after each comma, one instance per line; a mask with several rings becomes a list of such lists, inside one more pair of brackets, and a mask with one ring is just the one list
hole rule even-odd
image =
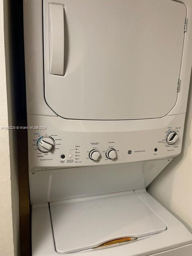
[[24, 0], [32, 256], [192, 255], [146, 192], [182, 150], [191, 20], [191, 0]]

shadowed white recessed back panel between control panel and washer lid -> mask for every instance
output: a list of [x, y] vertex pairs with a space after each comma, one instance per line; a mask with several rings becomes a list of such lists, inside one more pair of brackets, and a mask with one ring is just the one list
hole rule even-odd
[[169, 164], [168, 160], [144, 161], [29, 172], [30, 202], [42, 204], [58, 200], [109, 194], [146, 188]]

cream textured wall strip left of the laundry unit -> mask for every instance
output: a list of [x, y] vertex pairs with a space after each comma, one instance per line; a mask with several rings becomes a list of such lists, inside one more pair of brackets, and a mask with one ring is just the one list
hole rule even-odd
[[2, 130], [15, 124], [9, 3], [0, 0], [0, 255], [17, 256], [20, 246], [16, 131]]

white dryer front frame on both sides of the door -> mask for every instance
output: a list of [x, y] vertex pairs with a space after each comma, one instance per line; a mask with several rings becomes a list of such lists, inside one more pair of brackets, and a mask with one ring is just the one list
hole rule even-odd
[[[166, 2], [166, 4], [170, 5], [174, 1], [164, 0], [161, 2]], [[192, 24], [189, 22], [192, 18], [192, 2], [190, 0], [184, 0], [184, 1], [178, 1], [178, 2], [182, 2], [186, 5], [188, 26], [187, 26], [187, 32], [184, 34], [185, 40], [184, 40], [184, 51], [183, 51], [182, 66], [181, 66], [181, 73], [180, 73], [180, 78], [181, 78], [180, 92], [178, 93], [178, 96], [177, 96], [176, 105], [168, 113], [168, 115], [182, 114], [186, 112], [188, 88], [189, 88], [191, 66], [192, 66], [192, 51], [190, 50], [191, 41], [192, 41], [192, 32], [191, 32]], [[174, 3], [178, 4], [177, 2], [174, 2]], [[56, 114], [46, 104], [46, 101], [44, 98], [42, 1], [31, 1], [31, 0], [24, 1], [24, 43], [25, 43], [27, 112], [28, 114], [56, 116]], [[48, 56], [46, 56], [46, 60], [49, 63]], [[162, 98], [162, 101], [164, 102], [164, 97]], [[70, 106], [71, 108], [71, 104], [69, 104], [68, 106]], [[109, 107], [111, 108], [111, 104]]]

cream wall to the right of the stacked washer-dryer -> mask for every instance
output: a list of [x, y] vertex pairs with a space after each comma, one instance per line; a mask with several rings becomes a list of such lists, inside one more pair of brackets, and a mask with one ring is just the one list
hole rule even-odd
[[[148, 192], [192, 232], [192, 78], [182, 153], [150, 184]], [[181, 88], [182, 90], [182, 88]]]

